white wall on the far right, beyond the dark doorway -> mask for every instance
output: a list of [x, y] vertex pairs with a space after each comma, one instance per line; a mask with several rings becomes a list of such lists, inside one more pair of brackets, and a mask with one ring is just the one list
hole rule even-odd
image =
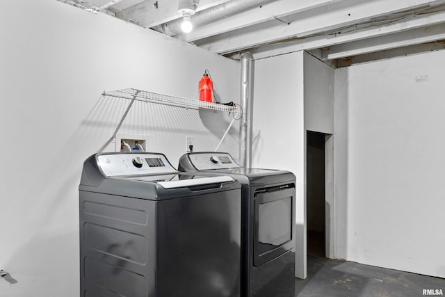
[[336, 70], [338, 248], [348, 260], [445, 277], [444, 63], [435, 51]]

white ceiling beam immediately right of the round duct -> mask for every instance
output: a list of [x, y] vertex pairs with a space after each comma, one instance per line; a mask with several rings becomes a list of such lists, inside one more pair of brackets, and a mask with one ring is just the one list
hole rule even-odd
[[338, 1], [341, 0], [314, 0], [311, 2], [296, 0], [273, 1], [271, 3], [264, 4], [262, 8], [243, 11], [224, 19], [216, 19], [215, 22], [212, 22], [211, 24], [195, 28], [191, 33], [181, 33], [175, 37], [186, 42], [192, 42], [202, 38], [207, 38], [211, 35], [217, 35], [270, 21], [275, 17], [280, 18], [287, 15], [301, 13], [305, 10], [317, 8], [319, 6]]

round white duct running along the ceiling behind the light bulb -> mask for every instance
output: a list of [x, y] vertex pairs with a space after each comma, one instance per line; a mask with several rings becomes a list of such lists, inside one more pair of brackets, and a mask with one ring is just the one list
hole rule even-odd
[[[215, 22], [216, 19], [223, 19], [241, 13], [245, 10], [252, 9], [256, 6], [262, 6], [274, 0], [231, 0], [218, 6], [201, 10], [191, 17], [191, 22], [195, 28], [204, 24]], [[177, 35], [181, 33], [182, 19], [175, 19], [172, 22], [152, 27], [153, 30], [164, 33], [165, 35]]]

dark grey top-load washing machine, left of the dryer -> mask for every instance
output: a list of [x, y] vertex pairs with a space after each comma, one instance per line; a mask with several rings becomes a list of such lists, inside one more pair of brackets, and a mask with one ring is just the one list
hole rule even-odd
[[80, 295], [240, 296], [241, 184], [103, 153], [79, 185]]

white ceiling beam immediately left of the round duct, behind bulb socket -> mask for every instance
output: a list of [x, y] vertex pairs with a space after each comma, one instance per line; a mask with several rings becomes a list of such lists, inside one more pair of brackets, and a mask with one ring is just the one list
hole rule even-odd
[[[200, 0], [196, 12], [218, 6], [230, 0]], [[178, 14], [178, 3], [161, 0], [145, 0], [134, 6], [126, 8], [116, 13], [116, 17], [129, 20], [134, 24], [151, 28], [165, 22], [170, 22], [181, 17]]]

